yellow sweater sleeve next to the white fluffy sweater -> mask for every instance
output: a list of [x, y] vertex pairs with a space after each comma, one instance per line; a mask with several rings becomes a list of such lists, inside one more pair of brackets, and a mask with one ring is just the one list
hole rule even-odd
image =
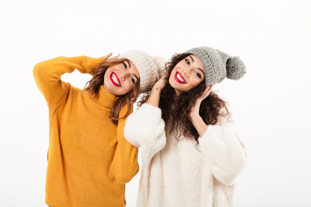
[[[127, 106], [124, 106], [119, 117], [123, 117], [127, 112]], [[133, 112], [131, 105], [130, 113]], [[124, 125], [126, 117], [119, 119], [117, 127], [117, 147], [112, 161], [112, 170], [114, 178], [118, 183], [128, 183], [138, 173], [139, 165], [137, 162], [138, 148], [132, 146], [124, 137]]]

